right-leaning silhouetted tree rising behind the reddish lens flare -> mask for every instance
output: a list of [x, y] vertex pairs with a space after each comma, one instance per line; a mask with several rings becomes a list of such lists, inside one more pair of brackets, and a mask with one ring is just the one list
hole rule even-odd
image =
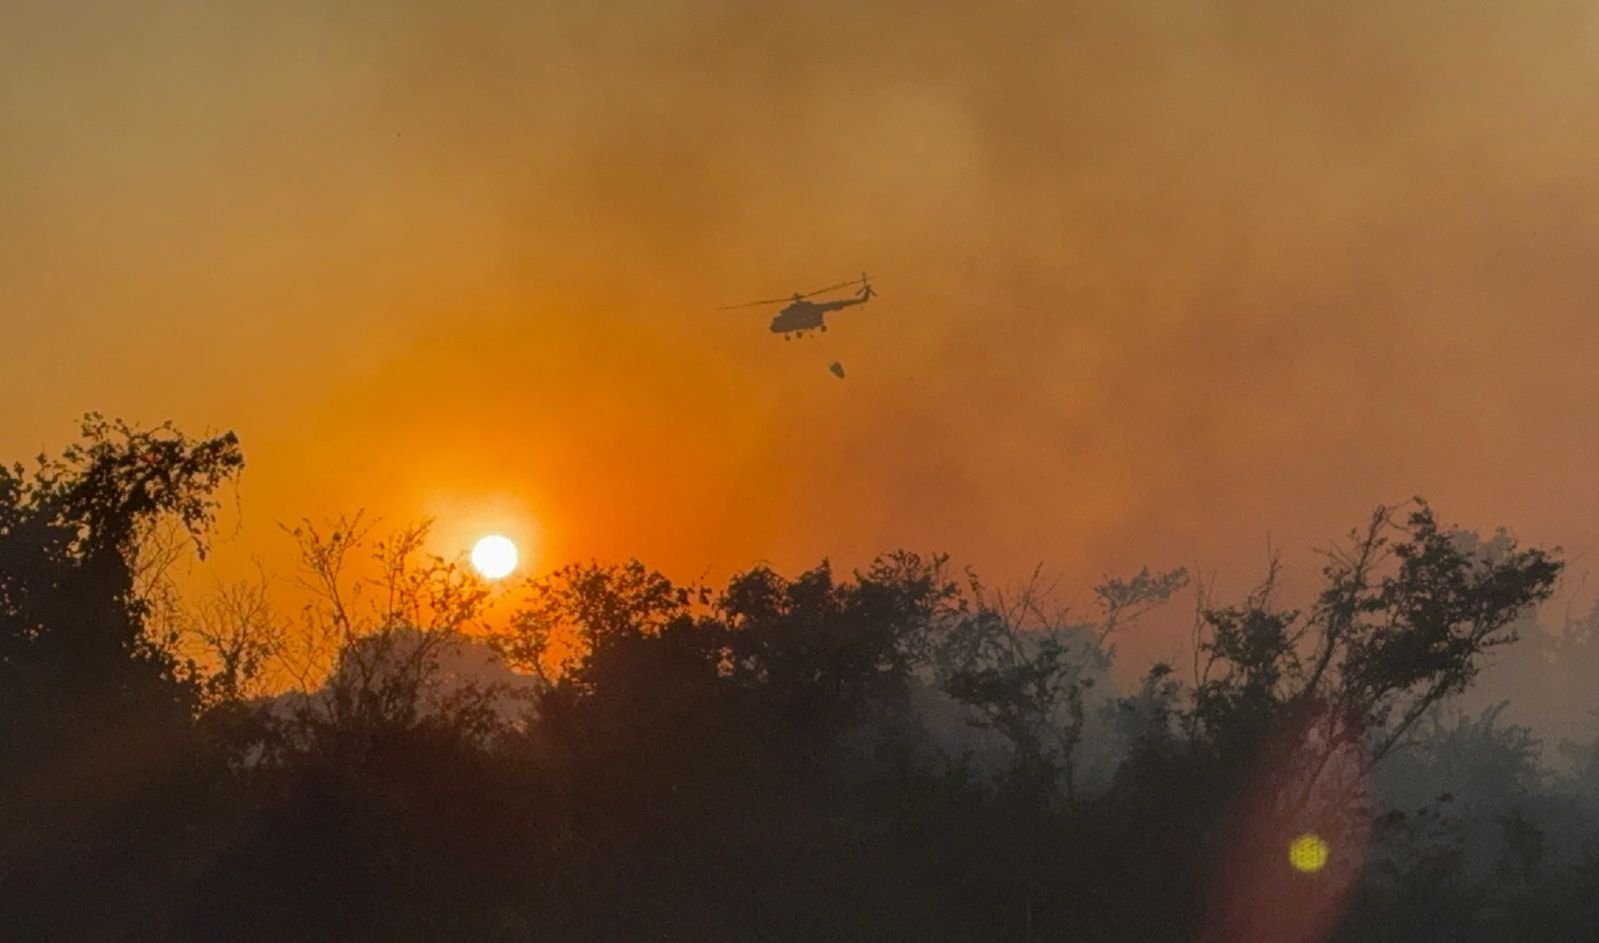
[[[1207, 935], [1297, 940], [1330, 929], [1370, 826], [1366, 770], [1469, 686], [1487, 652], [1514, 641], [1514, 622], [1549, 596], [1557, 572], [1548, 553], [1508, 540], [1479, 551], [1417, 502], [1402, 524], [1378, 508], [1332, 551], [1308, 611], [1276, 604], [1274, 564], [1241, 606], [1202, 611], [1198, 678], [1177, 718], [1190, 753], [1129, 772], [1186, 780], [1193, 825], [1182, 834], [1215, 858]], [[1150, 801], [1146, 786], [1124, 785]], [[1334, 857], [1290, 919], [1279, 911], [1295, 893], [1282, 853], [1306, 831], [1330, 841]], [[1198, 911], [1201, 897], [1183, 897]]]

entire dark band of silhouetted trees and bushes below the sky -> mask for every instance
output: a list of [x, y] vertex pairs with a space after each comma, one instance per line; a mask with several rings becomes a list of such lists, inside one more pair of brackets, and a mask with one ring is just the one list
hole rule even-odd
[[[945, 556], [484, 587], [361, 516], [309, 603], [185, 603], [232, 435], [90, 417], [0, 472], [0, 925], [18, 940], [1543, 940], [1599, 919], [1599, 750], [1458, 697], [1556, 553], [1380, 508], [1303, 609]], [[363, 558], [373, 574], [360, 577]], [[1198, 587], [1191, 678], [1110, 668]], [[1575, 644], [1575, 643], [1573, 643]], [[288, 681], [272, 681], [272, 674]], [[1329, 847], [1289, 866], [1297, 836]]]

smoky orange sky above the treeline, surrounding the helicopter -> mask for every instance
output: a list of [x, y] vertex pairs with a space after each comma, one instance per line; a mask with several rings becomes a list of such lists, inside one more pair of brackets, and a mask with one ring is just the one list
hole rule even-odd
[[1586, 553], [1596, 248], [1591, 0], [0, 11], [0, 454], [233, 428], [238, 551], [1241, 588], [1420, 491]]

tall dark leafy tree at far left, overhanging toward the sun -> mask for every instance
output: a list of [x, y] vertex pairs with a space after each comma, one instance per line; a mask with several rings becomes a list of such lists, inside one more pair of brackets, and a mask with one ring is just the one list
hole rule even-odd
[[232, 435], [90, 416], [27, 473], [0, 468], [0, 925], [18, 938], [158, 935], [203, 846], [216, 769], [185, 665], [147, 635], [141, 539], [176, 521], [205, 551]]

